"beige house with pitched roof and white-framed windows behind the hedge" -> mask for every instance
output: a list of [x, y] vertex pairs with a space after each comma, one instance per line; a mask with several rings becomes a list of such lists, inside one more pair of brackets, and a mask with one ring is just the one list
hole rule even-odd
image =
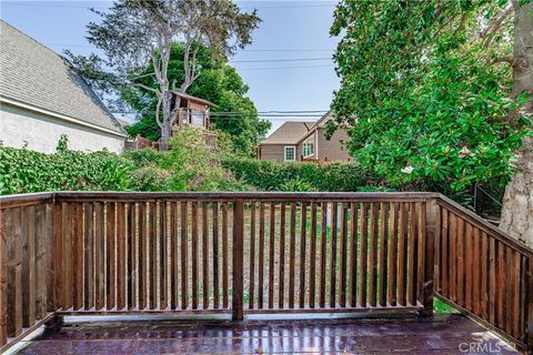
[[343, 146], [346, 132], [336, 130], [330, 140], [325, 136], [331, 112], [316, 122], [288, 121], [258, 146], [258, 158], [275, 161], [350, 161]]

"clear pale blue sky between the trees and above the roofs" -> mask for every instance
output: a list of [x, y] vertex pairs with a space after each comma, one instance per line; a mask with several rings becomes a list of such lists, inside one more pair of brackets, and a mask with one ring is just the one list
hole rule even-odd
[[[1, 0], [1, 18], [58, 53], [94, 51], [86, 40], [86, 24], [98, 21], [88, 8], [104, 10], [109, 1]], [[244, 10], [257, 8], [263, 20], [253, 43], [232, 58], [249, 84], [259, 111], [328, 110], [339, 79], [331, 57], [336, 39], [330, 38], [334, 1], [239, 1]], [[270, 62], [264, 62], [264, 61]], [[290, 61], [281, 61], [290, 60]], [[254, 62], [240, 62], [254, 61]], [[259, 62], [255, 62], [259, 61]], [[303, 67], [303, 68], [302, 68]], [[283, 120], [273, 118], [273, 129]]]

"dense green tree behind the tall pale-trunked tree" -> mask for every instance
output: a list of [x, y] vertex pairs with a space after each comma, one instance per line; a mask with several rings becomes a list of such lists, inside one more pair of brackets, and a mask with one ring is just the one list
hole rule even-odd
[[[182, 43], [174, 43], [171, 49], [168, 73], [171, 81], [183, 80], [183, 51]], [[235, 151], [251, 154], [253, 146], [266, 134], [270, 122], [258, 116], [255, 105], [245, 95], [248, 85], [224, 59], [213, 59], [211, 51], [201, 47], [198, 49], [197, 62], [202, 70], [188, 93], [215, 103], [217, 106], [211, 110], [214, 128], [230, 136]], [[150, 73], [152, 70], [150, 63], [144, 71]], [[158, 85], [150, 75], [139, 81], [149, 88]], [[158, 140], [161, 136], [155, 118], [158, 97], [148, 90], [128, 88], [122, 92], [122, 98], [141, 115], [138, 122], [128, 128], [128, 133]]]

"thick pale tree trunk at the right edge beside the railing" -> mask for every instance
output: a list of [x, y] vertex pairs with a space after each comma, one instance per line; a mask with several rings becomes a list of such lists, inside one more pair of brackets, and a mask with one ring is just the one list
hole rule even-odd
[[[533, 93], [533, 3], [515, 4], [512, 98]], [[532, 112], [533, 102], [524, 108]], [[533, 246], [533, 139], [516, 152], [517, 171], [505, 189], [500, 227]]]

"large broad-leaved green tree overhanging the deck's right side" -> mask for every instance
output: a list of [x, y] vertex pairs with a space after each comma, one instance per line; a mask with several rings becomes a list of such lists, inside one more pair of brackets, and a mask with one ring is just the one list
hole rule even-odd
[[[332, 109], [351, 154], [392, 184], [505, 186], [531, 134], [531, 10], [529, 0], [341, 1]], [[533, 195], [515, 213], [527, 211]], [[516, 236], [533, 239], [531, 219]]]

